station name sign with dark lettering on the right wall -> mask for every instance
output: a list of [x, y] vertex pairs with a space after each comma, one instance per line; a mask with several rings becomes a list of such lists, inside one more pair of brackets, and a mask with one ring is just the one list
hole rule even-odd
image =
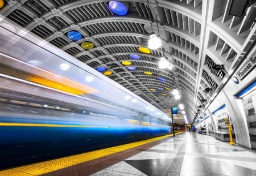
[[254, 54], [253, 57], [251, 57], [241, 68], [240, 70], [237, 71], [236, 73], [236, 77], [239, 80], [242, 80], [243, 78], [245, 78], [245, 76], [247, 74], [249, 74], [249, 72], [251, 70], [253, 70], [253, 68], [256, 66], [256, 56]]

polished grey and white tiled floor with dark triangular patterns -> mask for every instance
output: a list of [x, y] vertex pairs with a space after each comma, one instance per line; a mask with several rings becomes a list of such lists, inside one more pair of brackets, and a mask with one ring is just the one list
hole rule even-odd
[[185, 132], [92, 175], [256, 175], [256, 151]]

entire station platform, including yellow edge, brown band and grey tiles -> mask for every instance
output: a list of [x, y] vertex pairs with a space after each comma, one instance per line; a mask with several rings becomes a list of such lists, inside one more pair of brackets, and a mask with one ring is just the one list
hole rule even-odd
[[182, 132], [3, 170], [0, 175], [256, 175], [256, 152]]

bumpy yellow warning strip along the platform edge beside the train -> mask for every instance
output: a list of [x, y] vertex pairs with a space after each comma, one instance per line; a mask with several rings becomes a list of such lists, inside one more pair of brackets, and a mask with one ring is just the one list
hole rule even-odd
[[[177, 132], [175, 134], [180, 134], [180, 133], [182, 133], [182, 132]], [[0, 171], [0, 175], [3, 175], [3, 176], [5, 176], [5, 175], [6, 176], [10, 176], [10, 175], [27, 176], [27, 175], [46, 174], [51, 171], [67, 168], [68, 166], [80, 164], [82, 162], [86, 162], [86, 161], [94, 160], [96, 158], [108, 156], [109, 154], [114, 154], [117, 152], [125, 151], [127, 149], [138, 147], [140, 145], [148, 144], [148, 143], [151, 143], [156, 140], [167, 138], [169, 136], [172, 136], [172, 134], [160, 136], [157, 138], [151, 138], [151, 139], [146, 139], [146, 140], [142, 140], [142, 141], [137, 141], [134, 143], [118, 145], [115, 147], [104, 148], [104, 149], [100, 149], [97, 151], [75, 154], [73, 156], [58, 158], [55, 160], [38, 162], [36, 164], [20, 166], [18, 168], [2, 170], [2, 171]]]

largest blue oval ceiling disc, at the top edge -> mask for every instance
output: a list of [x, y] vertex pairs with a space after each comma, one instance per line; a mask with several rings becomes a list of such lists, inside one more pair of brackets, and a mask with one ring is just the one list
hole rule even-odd
[[129, 6], [127, 2], [110, 1], [109, 8], [117, 15], [126, 15]]

